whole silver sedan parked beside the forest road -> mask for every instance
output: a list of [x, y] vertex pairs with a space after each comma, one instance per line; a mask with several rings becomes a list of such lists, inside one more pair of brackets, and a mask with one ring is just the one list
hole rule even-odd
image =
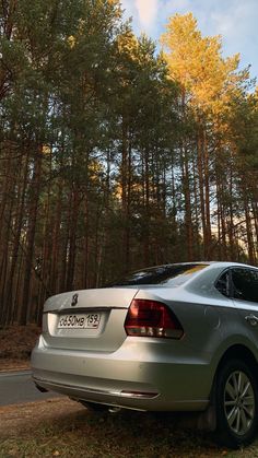
[[42, 390], [89, 408], [199, 411], [236, 447], [258, 426], [258, 269], [165, 265], [56, 295], [32, 354]]

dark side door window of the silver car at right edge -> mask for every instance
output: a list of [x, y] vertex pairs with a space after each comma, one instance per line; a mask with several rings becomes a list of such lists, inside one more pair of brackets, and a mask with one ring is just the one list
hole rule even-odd
[[233, 297], [258, 303], [258, 271], [232, 269]]

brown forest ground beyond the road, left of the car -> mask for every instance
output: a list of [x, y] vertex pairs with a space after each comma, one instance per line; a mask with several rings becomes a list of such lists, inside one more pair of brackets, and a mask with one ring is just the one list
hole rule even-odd
[[39, 332], [40, 328], [35, 325], [0, 329], [0, 371], [28, 368]]

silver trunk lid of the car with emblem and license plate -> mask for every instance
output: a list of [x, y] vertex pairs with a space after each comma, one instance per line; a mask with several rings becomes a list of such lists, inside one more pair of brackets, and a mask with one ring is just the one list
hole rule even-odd
[[50, 297], [44, 306], [45, 344], [71, 351], [116, 351], [126, 339], [124, 324], [137, 292], [134, 287], [109, 287]]

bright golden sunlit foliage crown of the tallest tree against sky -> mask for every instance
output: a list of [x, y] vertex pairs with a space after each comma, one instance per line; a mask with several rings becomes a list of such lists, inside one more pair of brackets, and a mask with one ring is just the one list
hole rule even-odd
[[239, 55], [223, 59], [221, 36], [202, 37], [192, 13], [171, 17], [161, 40], [171, 78], [179, 81], [192, 106], [202, 111], [221, 109], [234, 85]]

